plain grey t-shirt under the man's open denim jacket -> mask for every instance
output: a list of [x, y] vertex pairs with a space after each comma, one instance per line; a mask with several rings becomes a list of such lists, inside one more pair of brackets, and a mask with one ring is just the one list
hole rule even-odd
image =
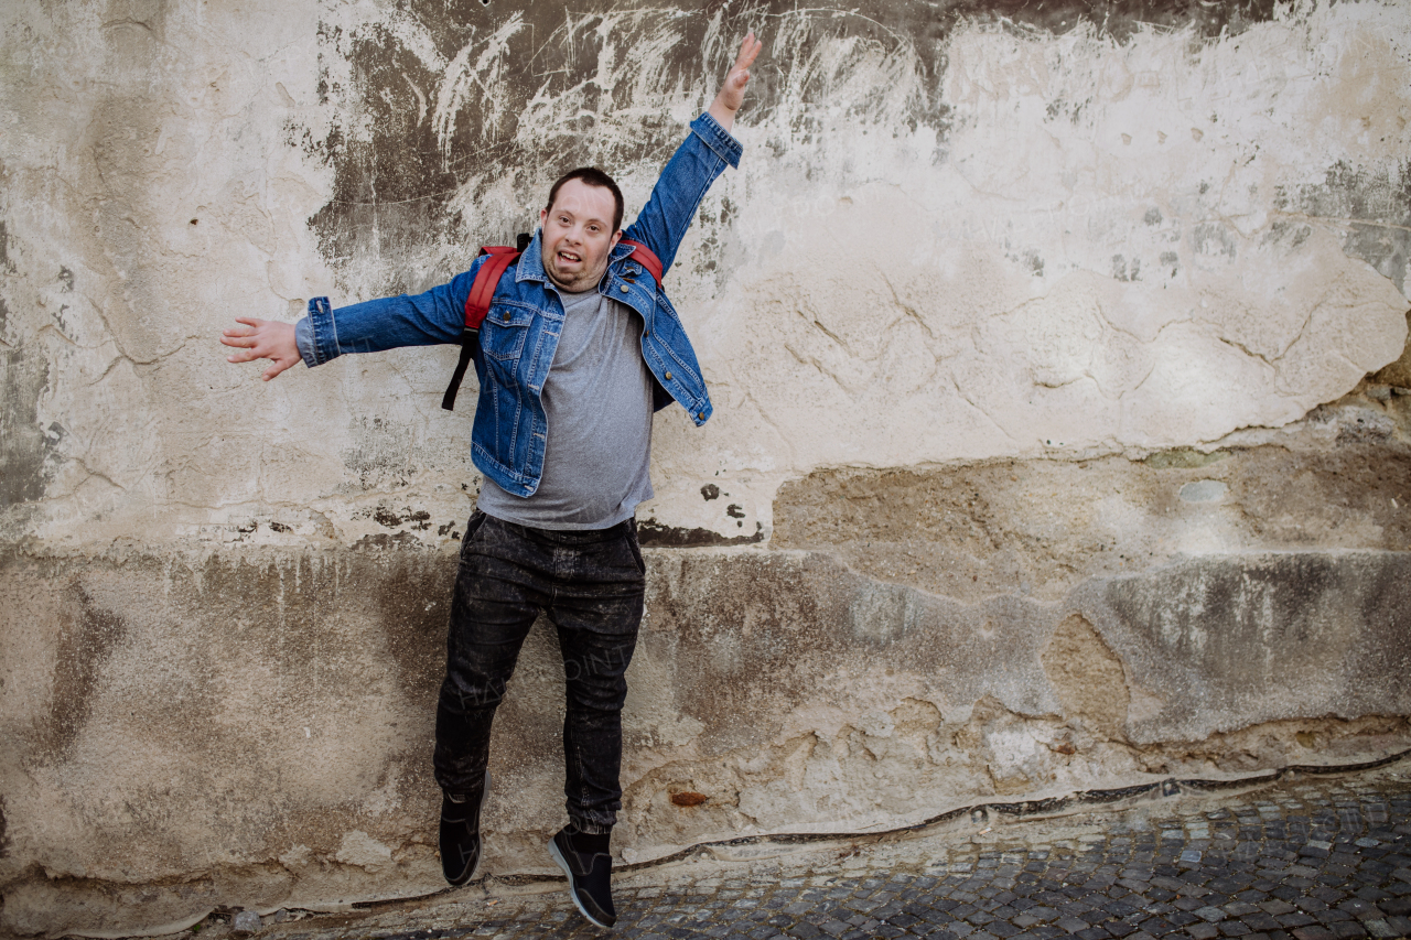
[[652, 373], [642, 320], [593, 291], [563, 301], [563, 332], [543, 382], [543, 477], [528, 498], [485, 477], [480, 511], [539, 529], [605, 529], [652, 498]]

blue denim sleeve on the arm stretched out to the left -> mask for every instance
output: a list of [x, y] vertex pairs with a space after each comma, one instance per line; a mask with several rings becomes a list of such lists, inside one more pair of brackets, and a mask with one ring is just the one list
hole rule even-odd
[[[387, 296], [333, 309], [329, 298], [309, 301], [309, 313], [295, 326], [306, 366], [322, 366], [344, 353], [380, 353], [399, 346], [460, 342], [466, 298], [481, 260], [447, 284], [415, 296]], [[305, 326], [308, 323], [308, 326]], [[302, 337], [301, 337], [302, 333]]]

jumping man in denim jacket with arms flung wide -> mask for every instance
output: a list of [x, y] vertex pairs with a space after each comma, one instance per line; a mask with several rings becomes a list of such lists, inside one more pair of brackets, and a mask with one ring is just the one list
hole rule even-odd
[[[610, 838], [621, 809], [624, 673], [642, 620], [645, 565], [636, 505], [652, 497], [652, 414], [680, 402], [701, 425], [706, 382], [680, 319], [624, 236], [670, 268], [696, 207], [741, 147], [729, 134], [761, 42], [751, 32], [715, 100], [662, 171], [624, 233], [622, 193], [598, 169], [553, 185], [539, 231], [499, 279], [474, 353], [480, 398], [471, 456], [484, 474], [452, 597], [446, 679], [436, 710], [446, 879], [480, 864], [490, 728], [535, 618], [555, 624], [567, 680], [563, 752], [569, 824], [549, 852], [579, 910], [617, 919]], [[419, 296], [333, 311], [309, 302], [298, 325], [237, 318], [231, 363], [272, 360], [268, 381], [302, 360], [459, 342], [470, 271]]]

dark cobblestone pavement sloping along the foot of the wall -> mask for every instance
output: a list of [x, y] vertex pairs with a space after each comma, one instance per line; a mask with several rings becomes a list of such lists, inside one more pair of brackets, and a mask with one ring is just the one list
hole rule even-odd
[[[1037, 820], [976, 810], [944, 831], [871, 845], [834, 843], [773, 860], [717, 857], [624, 872], [614, 933], [634, 940], [1405, 937], [1408, 765], [1301, 776], [1254, 792], [1085, 806]], [[543, 893], [547, 888], [553, 893]], [[357, 917], [265, 917], [262, 936], [601, 934], [570, 906], [562, 881], [540, 882], [538, 891], [491, 885], [478, 898], [384, 905]]]

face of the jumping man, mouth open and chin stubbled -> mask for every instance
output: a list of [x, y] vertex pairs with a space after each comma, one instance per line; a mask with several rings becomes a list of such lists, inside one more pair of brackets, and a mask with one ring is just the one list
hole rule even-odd
[[543, 270], [564, 291], [597, 287], [608, 268], [608, 253], [622, 237], [612, 230], [617, 202], [612, 192], [570, 179], [559, 186], [552, 209], [539, 210], [543, 229]]

